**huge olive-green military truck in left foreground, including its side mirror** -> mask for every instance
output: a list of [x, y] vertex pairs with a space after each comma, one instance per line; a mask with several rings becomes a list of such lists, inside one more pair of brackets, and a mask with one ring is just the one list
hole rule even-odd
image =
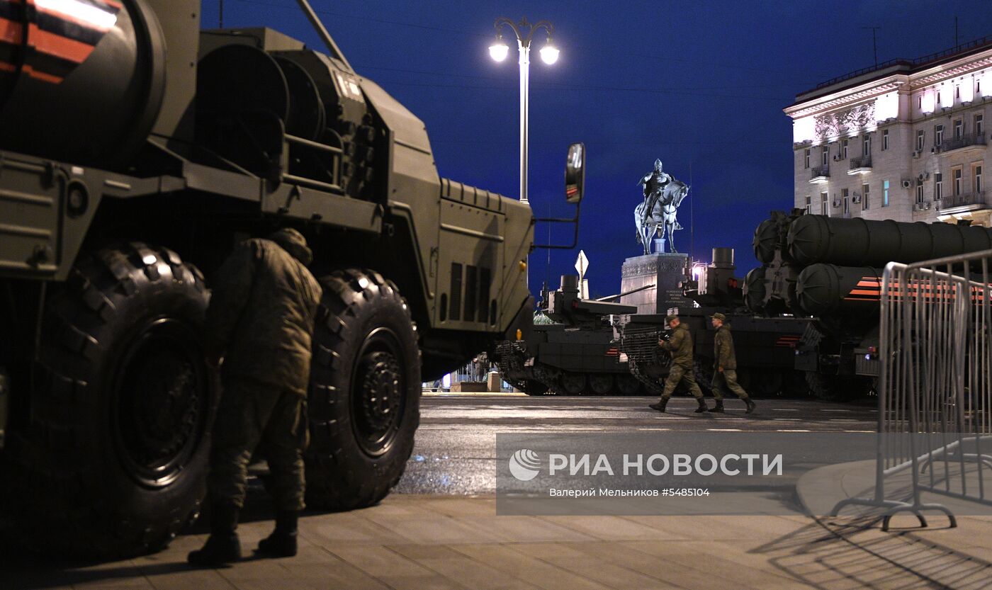
[[0, 483], [26, 538], [120, 556], [196, 517], [199, 330], [243, 238], [314, 252], [311, 508], [386, 496], [422, 381], [529, 330], [529, 206], [438, 177], [424, 123], [299, 3], [325, 53], [199, 31], [197, 0], [0, 2]]

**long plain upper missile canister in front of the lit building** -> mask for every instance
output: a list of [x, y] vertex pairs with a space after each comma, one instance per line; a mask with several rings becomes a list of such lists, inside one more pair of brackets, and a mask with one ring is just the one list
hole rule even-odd
[[992, 230], [947, 223], [901, 223], [803, 215], [789, 228], [790, 254], [802, 266], [884, 267], [992, 249]]

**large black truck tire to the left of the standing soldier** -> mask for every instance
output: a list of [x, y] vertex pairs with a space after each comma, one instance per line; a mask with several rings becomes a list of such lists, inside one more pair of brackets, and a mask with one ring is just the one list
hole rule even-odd
[[49, 298], [32, 419], [11, 433], [0, 478], [26, 543], [122, 557], [195, 519], [218, 394], [206, 305], [194, 267], [138, 243], [83, 256]]

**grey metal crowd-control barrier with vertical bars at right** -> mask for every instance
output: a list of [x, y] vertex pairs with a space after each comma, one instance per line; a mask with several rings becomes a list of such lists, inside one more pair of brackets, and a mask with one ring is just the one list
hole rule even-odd
[[[872, 498], [837, 504], [901, 512], [951, 511], [924, 493], [992, 505], [992, 251], [911, 265], [890, 263], [881, 294], [878, 447]], [[910, 475], [899, 498], [890, 486]], [[898, 481], [898, 480], [897, 480]]]

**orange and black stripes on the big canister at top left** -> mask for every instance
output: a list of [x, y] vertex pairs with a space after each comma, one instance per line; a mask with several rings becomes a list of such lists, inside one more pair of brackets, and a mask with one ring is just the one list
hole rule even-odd
[[60, 83], [89, 58], [121, 9], [118, 0], [0, 0], [0, 68]]

